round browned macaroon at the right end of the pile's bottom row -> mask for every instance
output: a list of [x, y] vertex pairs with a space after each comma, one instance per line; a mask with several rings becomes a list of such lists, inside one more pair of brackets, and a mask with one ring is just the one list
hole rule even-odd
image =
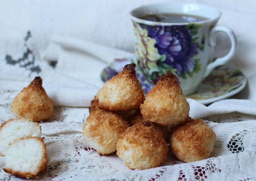
[[188, 119], [177, 125], [170, 138], [172, 154], [184, 162], [209, 158], [216, 144], [216, 135], [202, 119]]

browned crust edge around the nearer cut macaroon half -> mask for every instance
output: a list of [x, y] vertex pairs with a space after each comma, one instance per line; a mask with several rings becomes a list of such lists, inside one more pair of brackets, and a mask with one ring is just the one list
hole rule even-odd
[[[39, 174], [44, 174], [47, 170], [47, 164], [48, 164], [48, 158], [47, 158], [47, 151], [46, 151], [46, 146], [44, 143], [44, 137], [39, 138], [39, 137], [28, 137], [28, 138], [20, 138], [19, 140], [27, 140], [27, 139], [36, 139], [38, 141], [41, 141], [41, 144], [43, 146], [43, 158], [42, 161], [39, 165], [39, 169], [36, 171], [36, 173], [30, 173], [30, 172], [20, 172], [20, 171], [14, 171], [12, 169], [6, 169], [3, 168], [3, 170], [7, 173], [10, 173], [14, 176], [21, 177], [21, 178], [35, 178]], [[17, 141], [19, 141], [17, 140]]]

